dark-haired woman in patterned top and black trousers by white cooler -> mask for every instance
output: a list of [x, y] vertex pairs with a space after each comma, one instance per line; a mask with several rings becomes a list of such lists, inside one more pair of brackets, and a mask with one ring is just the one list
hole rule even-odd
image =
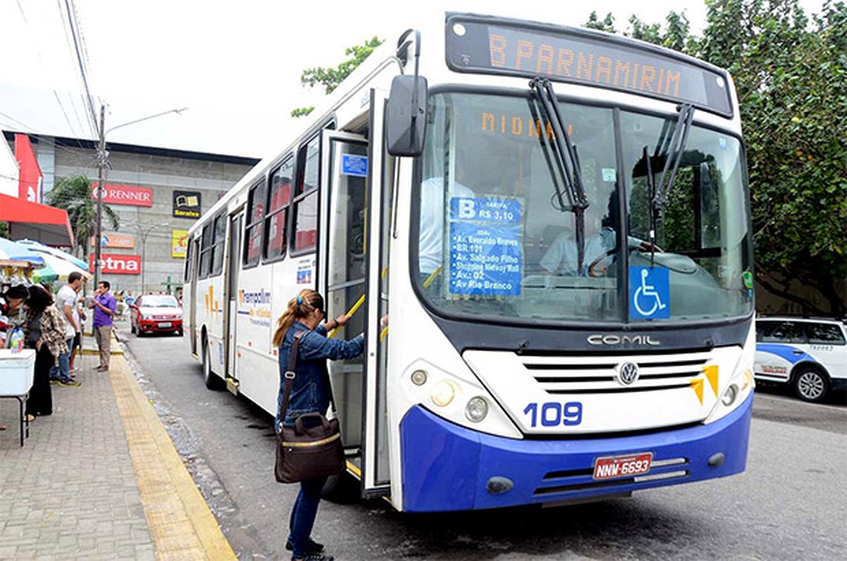
[[58, 365], [58, 358], [68, 352], [65, 342], [65, 325], [62, 314], [53, 306], [53, 295], [42, 286], [30, 286], [30, 297], [24, 303], [26, 321], [24, 334], [26, 346], [36, 349], [35, 376], [26, 400], [26, 419], [36, 415], [53, 414], [53, 392], [50, 390], [50, 369]]

